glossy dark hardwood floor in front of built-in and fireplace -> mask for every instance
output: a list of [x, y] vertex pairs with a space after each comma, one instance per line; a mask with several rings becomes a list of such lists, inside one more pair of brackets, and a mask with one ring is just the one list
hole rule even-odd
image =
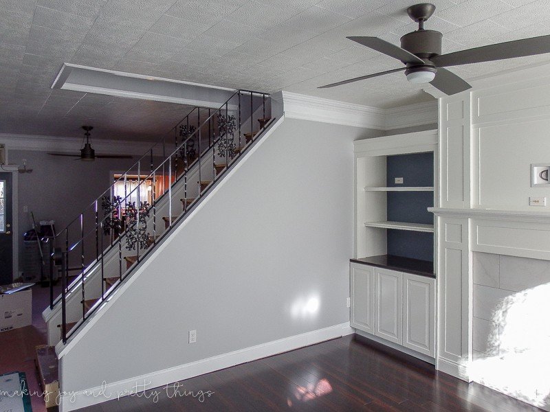
[[81, 410], [541, 411], [361, 336], [344, 336], [179, 385], [181, 396], [168, 385]]

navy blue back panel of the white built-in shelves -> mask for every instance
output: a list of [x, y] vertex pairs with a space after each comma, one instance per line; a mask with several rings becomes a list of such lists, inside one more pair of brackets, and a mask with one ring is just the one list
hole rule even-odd
[[[433, 152], [395, 155], [386, 158], [388, 187], [432, 187], [434, 185]], [[395, 184], [402, 177], [403, 184]], [[427, 209], [434, 205], [434, 192], [388, 192], [388, 220], [433, 225], [434, 216]], [[433, 233], [388, 229], [388, 255], [434, 260]]]

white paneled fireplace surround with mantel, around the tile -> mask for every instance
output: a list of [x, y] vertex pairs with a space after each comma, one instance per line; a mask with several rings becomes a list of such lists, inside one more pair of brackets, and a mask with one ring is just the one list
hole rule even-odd
[[[437, 235], [436, 364], [467, 381], [480, 381], [472, 367], [474, 253], [550, 260], [550, 186], [530, 181], [532, 163], [550, 162], [549, 68], [503, 73], [439, 98], [439, 205], [430, 209]], [[531, 196], [546, 204], [529, 206]], [[543, 357], [549, 359], [538, 362], [550, 364], [550, 354]], [[532, 383], [509, 391], [481, 381], [550, 411], [541, 401], [550, 388]]]

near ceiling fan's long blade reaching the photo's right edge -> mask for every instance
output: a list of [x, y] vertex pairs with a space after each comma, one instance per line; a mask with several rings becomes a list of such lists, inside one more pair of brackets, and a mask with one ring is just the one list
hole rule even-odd
[[503, 60], [505, 58], [533, 56], [543, 53], [550, 53], [550, 35], [522, 38], [521, 40], [496, 43], [496, 45], [441, 54], [441, 56], [435, 56], [431, 60], [437, 67], [448, 67]]

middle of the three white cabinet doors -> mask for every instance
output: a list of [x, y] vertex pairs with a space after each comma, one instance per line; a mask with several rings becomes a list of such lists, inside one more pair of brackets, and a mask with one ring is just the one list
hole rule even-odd
[[375, 335], [399, 345], [403, 342], [402, 280], [402, 273], [378, 268], [375, 271]]

